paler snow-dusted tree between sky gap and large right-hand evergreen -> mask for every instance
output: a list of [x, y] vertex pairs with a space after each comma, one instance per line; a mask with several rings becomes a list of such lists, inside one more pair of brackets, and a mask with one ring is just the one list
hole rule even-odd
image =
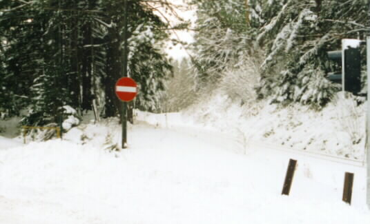
[[[237, 66], [250, 53], [255, 17], [247, 14], [245, 0], [194, 0], [197, 7], [193, 63], [201, 81], [220, 78], [226, 67]], [[251, 19], [249, 18], [251, 17]]]

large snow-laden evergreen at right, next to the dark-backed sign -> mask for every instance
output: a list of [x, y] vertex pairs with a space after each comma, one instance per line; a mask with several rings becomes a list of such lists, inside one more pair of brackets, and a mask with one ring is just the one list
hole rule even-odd
[[288, 0], [273, 7], [256, 37], [255, 45], [266, 49], [258, 93], [277, 102], [324, 105], [334, 92], [324, 78], [326, 52], [340, 48], [341, 39], [364, 38], [368, 6], [360, 0]]

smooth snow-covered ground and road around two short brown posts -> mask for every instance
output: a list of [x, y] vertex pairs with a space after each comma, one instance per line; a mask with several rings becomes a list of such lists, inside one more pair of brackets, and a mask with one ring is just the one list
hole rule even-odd
[[[362, 167], [197, 128], [130, 130], [117, 154], [67, 141], [0, 151], [0, 223], [369, 223]], [[281, 196], [289, 158], [291, 196]], [[341, 202], [356, 172], [353, 205]]]

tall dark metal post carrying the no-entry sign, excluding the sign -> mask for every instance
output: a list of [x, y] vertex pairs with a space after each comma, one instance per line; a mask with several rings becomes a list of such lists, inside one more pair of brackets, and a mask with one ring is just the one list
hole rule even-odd
[[[128, 26], [128, 10], [127, 10], [127, 0], [124, 0], [124, 60], [123, 60], [123, 69], [122, 77], [127, 77], [127, 57], [128, 57], [128, 48], [127, 48], [127, 26]], [[121, 123], [122, 123], [122, 148], [126, 148], [127, 144], [127, 103], [122, 102], [122, 114], [121, 114]]]

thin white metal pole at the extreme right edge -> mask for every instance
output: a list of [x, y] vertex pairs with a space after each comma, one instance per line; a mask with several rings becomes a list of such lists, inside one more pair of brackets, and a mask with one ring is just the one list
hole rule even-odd
[[366, 116], [366, 160], [367, 160], [367, 206], [370, 208], [370, 36], [366, 39], [367, 46], [367, 116]]

